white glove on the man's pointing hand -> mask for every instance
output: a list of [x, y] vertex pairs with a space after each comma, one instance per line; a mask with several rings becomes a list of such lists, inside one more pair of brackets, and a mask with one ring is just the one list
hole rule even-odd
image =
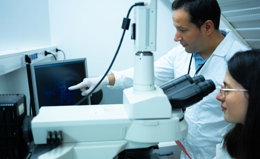
[[[99, 83], [99, 81], [101, 80], [103, 76], [100, 77], [94, 77], [94, 78], [84, 78], [83, 82], [75, 85], [75, 86], [71, 86], [68, 89], [69, 90], [75, 90], [75, 89], [80, 89], [81, 90], [81, 95], [88, 95], [88, 93], [90, 93], [90, 91]], [[94, 90], [93, 93], [99, 91], [103, 86], [107, 86], [109, 83], [109, 80], [107, 78], [107, 76], [103, 79], [103, 81], [99, 84], [99, 86]]]

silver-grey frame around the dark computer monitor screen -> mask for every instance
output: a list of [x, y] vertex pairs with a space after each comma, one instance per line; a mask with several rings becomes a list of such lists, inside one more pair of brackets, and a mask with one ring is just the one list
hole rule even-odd
[[[75, 61], [84, 61], [85, 75], [86, 75], [86, 78], [88, 78], [87, 59], [86, 58], [77, 58], [77, 59], [59, 60], [59, 61], [48, 61], [48, 62], [38, 62], [38, 63], [30, 64], [31, 84], [32, 84], [32, 90], [33, 90], [33, 95], [34, 95], [34, 107], [35, 107], [36, 115], [39, 114], [40, 108], [39, 108], [39, 102], [38, 102], [38, 93], [37, 93], [36, 76], [35, 76], [34, 67], [35, 66], [48, 65], [48, 64], [59, 64], [59, 63], [65, 63], [65, 62], [75, 62]], [[90, 104], [91, 104], [90, 103], [90, 97], [88, 97], [88, 105], [90, 105]], [[34, 109], [34, 108], [32, 108], [32, 109]]]

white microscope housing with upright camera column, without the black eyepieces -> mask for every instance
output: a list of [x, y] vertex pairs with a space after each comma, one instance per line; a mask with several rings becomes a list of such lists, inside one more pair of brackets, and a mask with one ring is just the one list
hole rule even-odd
[[113, 159], [127, 149], [141, 149], [184, 138], [188, 124], [181, 109], [172, 110], [154, 84], [157, 0], [135, 7], [136, 38], [133, 87], [123, 104], [41, 107], [31, 122], [35, 144], [47, 144], [49, 131], [62, 131], [62, 144], [38, 159]]

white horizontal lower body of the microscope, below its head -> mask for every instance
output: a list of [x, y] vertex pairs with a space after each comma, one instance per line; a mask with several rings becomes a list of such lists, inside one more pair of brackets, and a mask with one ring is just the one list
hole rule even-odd
[[123, 104], [112, 104], [41, 107], [31, 127], [35, 144], [47, 144], [49, 131], [62, 131], [62, 144], [39, 159], [113, 159], [126, 149], [184, 138], [188, 125], [180, 109], [168, 119], [130, 119]]

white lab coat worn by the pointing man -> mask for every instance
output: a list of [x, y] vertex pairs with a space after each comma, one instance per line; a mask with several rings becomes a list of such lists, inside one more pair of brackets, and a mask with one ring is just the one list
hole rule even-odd
[[[248, 50], [249, 48], [234, 40], [231, 30], [220, 29], [226, 35], [218, 45], [213, 54], [199, 71], [205, 79], [211, 79], [216, 88], [222, 84], [229, 60], [237, 51]], [[166, 55], [154, 62], [155, 84], [160, 85], [171, 79], [187, 74], [191, 53], [185, 52], [182, 45], [173, 48]], [[116, 81], [110, 88], [129, 88], [133, 86], [133, 71], [130, 68], [124, 71], [112, 71]], [[192, 60], [190, 76], [196, 73], [195, 59]], [[181, 143], [190, 154], [192, 159], [212, 159], [216, 156], [216, 145], [221, 143], [222, 137], [218, 130], [226, 127], [228, 123], [224, 120], [221, 110], [221, 102], [216, 99], [218, 89], [214, 90], [203, 100], [188, 107], [185, 112], [185, 119], [189, 125], [188, 135], [181, 140]], [[181, 159], [188, 158], [182, 152]]]

